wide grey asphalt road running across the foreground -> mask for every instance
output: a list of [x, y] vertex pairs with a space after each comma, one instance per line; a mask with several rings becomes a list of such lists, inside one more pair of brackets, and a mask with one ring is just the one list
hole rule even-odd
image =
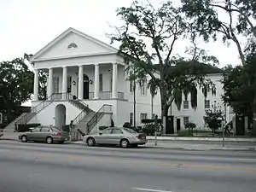
[[0, 141], [1, 192], [255, 192], [255, 151]]

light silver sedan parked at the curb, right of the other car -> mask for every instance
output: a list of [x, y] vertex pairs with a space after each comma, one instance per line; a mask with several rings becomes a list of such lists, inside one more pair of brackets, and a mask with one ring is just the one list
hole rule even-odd
[[88, 146], [96, 144], [120, 145], [122, 148], [137, 147], [147, 143], [146, 135], [125, 127], [109, 127], [96, 134], [83, 137]]

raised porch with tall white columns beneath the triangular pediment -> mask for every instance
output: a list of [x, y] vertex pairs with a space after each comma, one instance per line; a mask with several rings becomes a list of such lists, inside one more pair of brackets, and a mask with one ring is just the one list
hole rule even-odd
[[38, 101], [39, 70], [48, 72], [48, 97], [55, 93], [61, 94], [59, 100], [67, 100], [67, 95], [63, 93], [70, 93], [79, 100], [124, 99], [125, 90], [118, 91], [118, 81], [124, 78], [119, 77], [118, 69], [116, 62], [35, 69], [33, 100]]

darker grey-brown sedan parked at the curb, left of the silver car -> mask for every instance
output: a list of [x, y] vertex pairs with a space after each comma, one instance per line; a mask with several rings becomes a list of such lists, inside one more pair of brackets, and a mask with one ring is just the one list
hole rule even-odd
[[49, 126], [38, 126], [31, 128], [30, 131], [21, 133], [19, 135], [21, 142], [26, 143], [27, 141], [34, 142], [46, 142], [46, 143], [64, 143], [69, 140], [69, 133], [59, 130], [57, 127]]

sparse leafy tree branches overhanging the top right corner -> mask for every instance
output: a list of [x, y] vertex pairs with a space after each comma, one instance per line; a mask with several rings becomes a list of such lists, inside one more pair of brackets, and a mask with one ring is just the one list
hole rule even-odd
[[[253, 35], [256, 38], [255, 1], [254, 0], [182, 0], [182, 11], [191, 26], [191, 38], [202, 37], [206, 42], [217, 40], [222, 35], [224, 43], [233, 41], [238, 49], [241, 63], [245, 65], [241, 44], [237, 34]], [[221, 11], [222, 15], [219, 16]], [[226, 16], [223, 16], [226, 13]], [[237, 22], [236, 22], [237, 20]]]

